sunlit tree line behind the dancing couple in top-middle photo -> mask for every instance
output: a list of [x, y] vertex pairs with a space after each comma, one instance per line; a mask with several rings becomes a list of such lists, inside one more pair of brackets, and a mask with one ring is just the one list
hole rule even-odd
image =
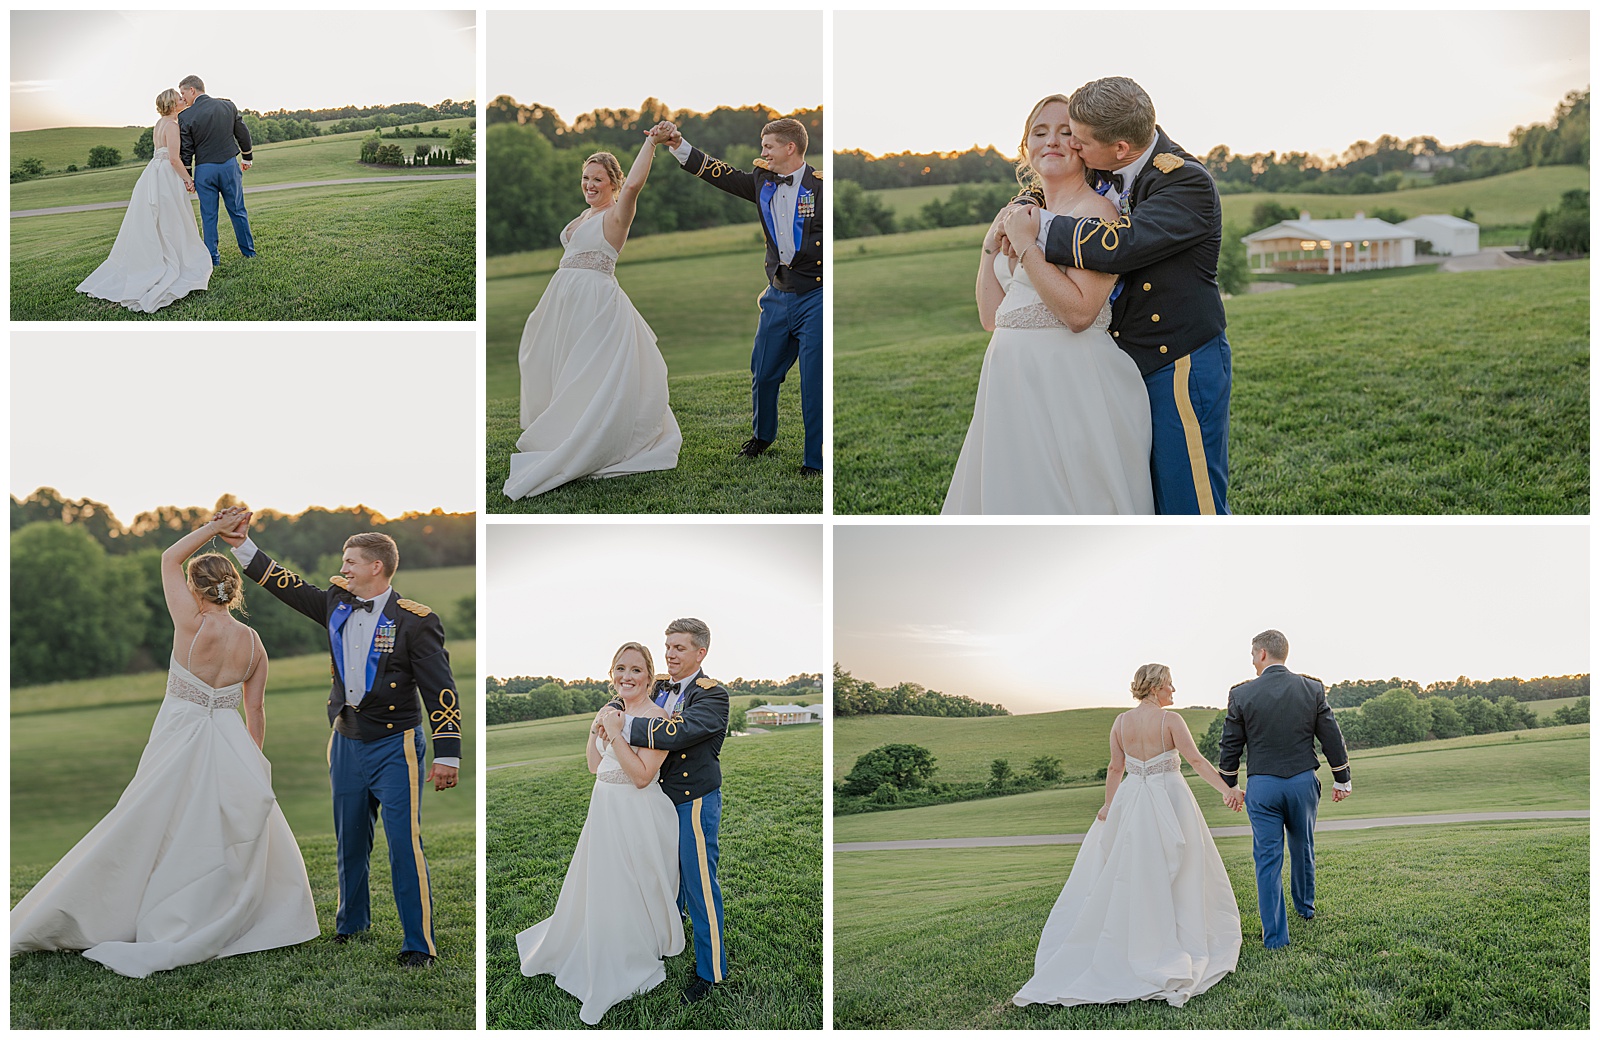
[[[486, 171], [488, 254], [558, 246], [562, 229], [586, 205], [579, 189], [584, 158], [594, 152], [613, 152], [626, 176], [643, 144], [643, 131], [664, 118], [674, 120], [685, 139], [707, 155], [749, 170], [760, 155], [762, 126], [781, 115], [765, 106], [669, 110], [650, 98], [638, 109], [595, 109], [568, 125], [547, 106], [523, 106], [502, 94], [485, 112], [485, 149], [493, 157]], [[818, 155], [822, 110], [803, 109], [787, 115], [806, 125], [811, 152]], [[670, 155], [656, 155], [650, 184], [638, 197], [632, 237], [757, 219], [749, 202], [691, 184], [677, 165]], [[752, 229], [752, 245], [758, 242], [760, 234]]]

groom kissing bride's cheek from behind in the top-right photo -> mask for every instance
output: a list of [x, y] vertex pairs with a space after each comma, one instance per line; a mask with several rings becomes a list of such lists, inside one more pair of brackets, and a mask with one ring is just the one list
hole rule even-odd
[[1122, 275], [1112, 336], [1150, 397], [1155, 512], [1226, 514], [1234, 362], [1216, 282], [1216, 182], [1155, 125], [1150, 96], [1126, 77], [1075, 90], [1067, 118], [1072, 150], [1122, 218], [1042, 210], [1037, 243], [1051, 264]]

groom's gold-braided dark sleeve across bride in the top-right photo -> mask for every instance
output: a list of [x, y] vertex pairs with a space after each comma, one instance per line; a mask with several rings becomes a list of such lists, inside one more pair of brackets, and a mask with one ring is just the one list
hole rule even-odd
[[1051, 216], [1045, 259], [1064, 267], [1128, 274], [1219, 234], [1222, 205], [1198, 163], [1162, 174], [1131, 216]]

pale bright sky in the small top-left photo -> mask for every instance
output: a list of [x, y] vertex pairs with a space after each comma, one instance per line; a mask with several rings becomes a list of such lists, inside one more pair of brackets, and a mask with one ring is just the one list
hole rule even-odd
[[477, 98], [475, 11], [13, 11], [11, 130], [147, 126], [186, 75], [242, 109]]

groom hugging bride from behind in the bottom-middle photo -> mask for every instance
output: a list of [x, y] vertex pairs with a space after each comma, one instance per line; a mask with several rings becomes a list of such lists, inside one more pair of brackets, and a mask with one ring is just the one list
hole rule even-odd
[[728, 978], [722, 936], [722, 888], [717, 885], [717, 832], [722, 824], [722, 754], [728, 734], [728, 691], [706, 677], [701, 662], [710, 629], [698, 618], [667, 626], [667, 675], [656, 682], [666, 718], [627, 717], [622, 738], [634, 747], [664, 747], [661, 789], [678, 810], [678, 909], [694, 931], [694, 981], [683, 1003], [710, 997]]

